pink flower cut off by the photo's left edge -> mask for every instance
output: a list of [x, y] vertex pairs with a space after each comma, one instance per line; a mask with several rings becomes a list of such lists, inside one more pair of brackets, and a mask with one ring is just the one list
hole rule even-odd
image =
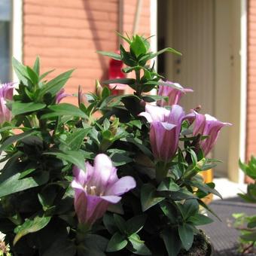
[[13, 99], [14, 83], [0, 84], [0, 123], [11, 121], [11, 111], [6, 105], [6, 100]]

